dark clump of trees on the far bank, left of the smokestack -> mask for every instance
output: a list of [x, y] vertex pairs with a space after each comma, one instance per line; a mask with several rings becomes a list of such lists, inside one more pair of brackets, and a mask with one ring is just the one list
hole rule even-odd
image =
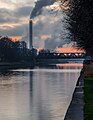
[[0, 63], [34, 62], [37, 51], [28, 49], [25, 41], [12, 41], [9, 37], [0, 36]]

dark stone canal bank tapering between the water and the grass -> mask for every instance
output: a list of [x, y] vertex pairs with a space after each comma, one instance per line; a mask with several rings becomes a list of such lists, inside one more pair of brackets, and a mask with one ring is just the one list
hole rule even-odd
[[81, 71], [80, 77], [77, 81], [75, 91], [72, 96], [72, 101], [68, 107], [67, 113], [64, 120], [83, 120], [83, 108], [84, 108], [84, 76], [83, 70]]

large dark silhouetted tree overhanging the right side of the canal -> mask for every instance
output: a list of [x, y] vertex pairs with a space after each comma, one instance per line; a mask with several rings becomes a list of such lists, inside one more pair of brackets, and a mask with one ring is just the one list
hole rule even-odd
[[68, 29], [72, 41], [76, 41], [87, 54], [93, 55], [93, 0], [58, 0], [68, 10]]

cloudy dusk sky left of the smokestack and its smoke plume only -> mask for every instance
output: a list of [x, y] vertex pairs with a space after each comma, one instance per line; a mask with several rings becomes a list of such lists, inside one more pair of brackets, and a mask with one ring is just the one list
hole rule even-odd
[[34, 0], [0, 0], [0, 35], [21, 36]]

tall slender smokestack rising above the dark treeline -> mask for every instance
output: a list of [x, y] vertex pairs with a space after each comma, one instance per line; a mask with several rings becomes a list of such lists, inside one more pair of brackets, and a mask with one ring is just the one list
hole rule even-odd
[[33, 47], [33, 21], [29, 20], [29, 49]]

